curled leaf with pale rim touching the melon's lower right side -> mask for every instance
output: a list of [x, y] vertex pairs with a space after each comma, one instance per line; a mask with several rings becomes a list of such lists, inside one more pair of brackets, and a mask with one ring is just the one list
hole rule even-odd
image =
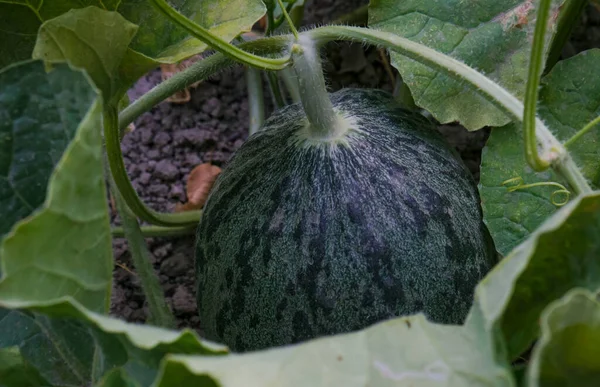
[[514, 359], [538, 336], [550, 302], [574, 287], [600, 289], [598, 235], [600, 192], [574, 199], [480, 282], [466, 325], [483, 326], [496, 356]]

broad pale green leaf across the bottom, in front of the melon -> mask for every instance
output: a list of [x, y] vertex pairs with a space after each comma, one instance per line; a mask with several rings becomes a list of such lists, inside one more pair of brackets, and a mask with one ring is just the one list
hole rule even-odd
[[473, 333], [423, 315], [397, 318], [281, 349], [172, 356], [157, 386], [513, 386]]

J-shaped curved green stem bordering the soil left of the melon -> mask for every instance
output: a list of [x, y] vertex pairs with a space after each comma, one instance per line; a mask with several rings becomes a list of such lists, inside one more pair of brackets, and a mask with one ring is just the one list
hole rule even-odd
[[200, 221], [201, 211], [188, 211], [181, 213], [161, 213], [146, 207], [135, 192], [131, 180], [127, 175], [121, 152], [121, 137], [119, 135], [119, 117], [117, 108], [106, 106], [103, 114], [104, 140], [110, 172], [115, 179], [116, 187], [123, 196], [127, 206], [140, 219], [157, 226], [181, 227], [197, 225]]

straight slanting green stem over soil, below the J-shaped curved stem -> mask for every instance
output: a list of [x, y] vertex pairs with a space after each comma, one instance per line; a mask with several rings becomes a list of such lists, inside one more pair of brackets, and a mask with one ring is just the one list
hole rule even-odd
[[109, 178], [109, 181], [117, 204], [117, 211], [123, 222], [123, 233], [127, 238], [129, 252], [148, 302], [149, 321], [159, 327], [175, 328], [175, 318], [167, 306], [164, 291], [160, 286], [152, 263], [150, 263], [150, 252], [140, 230], [140, 225], [125, 204], [115, 181], [112, 178]]

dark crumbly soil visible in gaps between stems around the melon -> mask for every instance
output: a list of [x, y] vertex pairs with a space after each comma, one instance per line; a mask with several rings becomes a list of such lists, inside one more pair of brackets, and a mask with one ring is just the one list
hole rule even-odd
[[[305, 25], [321, 24], [368, 4], [368, 0], [307, 0]], [[564, 55], [600, 47], [600, 11], [589, 6], [574, 31]], [[359, 44], [331, 44], [324, 64], [332, 90], [371, 87], [392, 90], [389, 68], [378, 49]], [[394, 72], [393, 76], [397, 74]], [[153, 71], [130, 91], [130, 98], [161, 81]], [[268, 96], [268, 91], [265, 90]], [[272, 109], [268, 106], [268, 109]], [[191, 90], [185, 104], [163, 102], [135, 122], [122, 149], [127, 171], [141, 198], [153, 209], [173, 211], [186, 201], [185, 182], [198, 164], [223, 166], [245, 141], [248, 133], [248, 100], [244, 72], [230, 69]], [[440, 132], [460, 153], [476, 179], [487, 130], [467, 132], [459, 125], [442, 125]], [[113, 213], [113, 223], [119, 220]], [[180, 328], [202, 332], [194, 296], [194, 236], [149, 238], [151, 260]], [[124, 239], [113, 243], [116, 265], [111, 314], [130, 322], [146, 320], [148, 310]]]

